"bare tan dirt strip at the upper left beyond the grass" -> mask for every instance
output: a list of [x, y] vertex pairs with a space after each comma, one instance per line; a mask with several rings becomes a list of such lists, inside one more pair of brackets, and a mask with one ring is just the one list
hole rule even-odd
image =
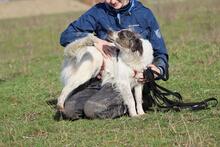
[[77, 0], [0, 0], [0, 19], [84, 11], [88, 8]]

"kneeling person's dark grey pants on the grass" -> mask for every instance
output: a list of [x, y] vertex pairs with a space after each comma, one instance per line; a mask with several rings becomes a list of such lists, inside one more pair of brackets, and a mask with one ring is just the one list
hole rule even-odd
[[[149, 92], [144, 90], [143, 94], [147, 96]], [[149, 101], [144, 99], [143, 107], [146, 110], [149, 107]], [[107, 83], [101, 86], [100, 80], [93, 79], [69, 96], [65, 102], [63, 115], [66, 119], [76, 120], [84, 117], [116, 118], [126, 113], [127, 107], [123, 104], [123, 99], [114, 85]]]

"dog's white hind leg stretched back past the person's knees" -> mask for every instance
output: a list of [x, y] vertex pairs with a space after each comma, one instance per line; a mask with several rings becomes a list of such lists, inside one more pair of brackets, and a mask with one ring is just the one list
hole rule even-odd
[[101, 60], [95, 60], [93, 56], [91, 56], [91, 54], [88, 54], [88, 57], [83, 58], [84, 60], [79, 64], [78, 69], [74, 72], [74, 74], [70, 76], [68, 82], [61, 92], [60, 97], [58, 98], [57, 109], [59, 111], [64, 110], [64, 102], [69, 94], [71, 94], [74, 89], [84, 84], [91, 78], [96, 77], [96, 75], [98, 74], [97, 71], [99, 71], [99, 68], [101, 68]]

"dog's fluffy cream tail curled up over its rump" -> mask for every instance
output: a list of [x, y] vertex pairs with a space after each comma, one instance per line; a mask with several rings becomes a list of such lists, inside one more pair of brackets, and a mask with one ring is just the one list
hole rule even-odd
[[64, 56], [75, 59], [76, 63], [78, 63], [85, 54], [86, 48], [88, 46], [94, 46], [96, 41], [97, 37], [95, 37], [93, 34], [88, 34], [84, 38], [73, 41], [64, 49]]

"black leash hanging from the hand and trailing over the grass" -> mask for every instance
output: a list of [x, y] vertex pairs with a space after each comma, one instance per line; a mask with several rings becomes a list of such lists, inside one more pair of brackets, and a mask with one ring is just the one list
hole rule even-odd
[[[144, 78], [149, 82], [149, 88], [152, 94], [153, 102], [159, 108], [175, 111], [180, 111], [181, 109], [201, 110], [216, 107], [218, 104], [218, 100], [214, 97], [204, 99], [200, 102], [183, 102], [180, 93], [173, 92], [158, 85], [154, 80], [154, 74], [156, 74], [164, 81], [167, 79], [164, 79], [163, 76], [151, 70], [151, 68], [148, 68], [144, 71]], [[170, 96], [172, 96], [172, 98], [168, 98]]]

